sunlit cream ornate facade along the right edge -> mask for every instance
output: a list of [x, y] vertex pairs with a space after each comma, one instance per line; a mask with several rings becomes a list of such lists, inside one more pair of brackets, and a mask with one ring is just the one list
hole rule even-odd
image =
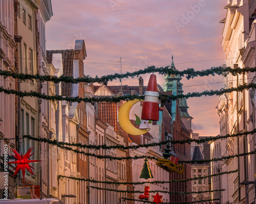
[[[227, 3], [225, 7], [227, 15], [222, 21], [224, 29], [221, 41], [226, 55], [226, 66], [231, 68], [254, 67], [256, 2], [233, 0]], [[225, 88], [251, 82], [254, 82], [254, 73], [228, 74], [225, 78]], [[216, 110], [220, 118], [220, 135], [242, 133], [255, 128], [254, 92], [250, 90], [233, 91], [221, 96]], [[215, 158], [243, 154], [254, 150], [254, 144], [254, 134], [215, 141], [211, 144], [211, 155]], [[213, 163], [211, 168], [212, 170], [220, 169], [219, 172], [238, 169], [237, 173], [220, 177], [218, 188], [228, 189], [228, 191], [221, 192], [221, 203], [254, 202], [254, 185], [242, 183], [255, 180], [254, 155]], [[213, 190], [216, 188], [217, 186]]]

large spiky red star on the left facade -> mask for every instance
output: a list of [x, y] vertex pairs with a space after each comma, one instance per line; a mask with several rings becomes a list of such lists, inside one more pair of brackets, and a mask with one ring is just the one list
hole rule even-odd
[[33, 147], [30, 147], [25, 155], [20, 155], [20, 154], [18, 154], [18, 152], [15, 149], [12, 149], [12, 151], [15, 154], [15, 155], [12, 155], [12, 156], [17, 159], [17, 161], [8, 162], [8, 164], [17, 164], [17, 166], [13, 169], [13, 170], [15, 170], [13, 176], [15, 176], [19, 172], [20, 169], [22, 170], [23, 179], [25, 179], [25, 170], [26, 169], [31, 174], [35, 175], [34, 172], [32, 171], [32, 169], [35, 169], [35, 168], [30, 166], [28, 163], [39, 162], [41, 160], [29, 160], [29, 158], [35, 153], [35, 152], [33, 152], [32, 154], [30, 154], [32, 149], [33, 149]]

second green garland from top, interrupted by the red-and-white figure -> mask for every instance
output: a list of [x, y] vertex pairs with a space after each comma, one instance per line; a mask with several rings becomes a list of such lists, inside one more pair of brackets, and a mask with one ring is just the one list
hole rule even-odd
[[[224, 93], [231, 93], [233, 91], [243, 91], [245, 89], [249, 89], [249, 88], [256, 88], [256, 84], [254, 83], [250, 83], [250, 84], [244, 84], [244, 85], [240, 85], [238, 87], [233, 87], [233, 88], [229, 88], [229, 89], [220, 89], [220, 90], [210, 90], [210, 91], [203, 91], [203, 92], [193, 92], [193, 93], [188, 93], [188, 94], [179, 94], [179, 95], [170, 95], [168, 96], [168, 100], [176, 100], [178, 98], [190, 98], [190, 97], [201, 97], [201, 96], [212, 96], [212, 95], [222, 95]], [[92, 98], [81, 98], [81, 97], [63, 97], [61, 95], [45, 95], [42, 93], [38, 93], [36, 91], [16, 91], [14, 89], [5, 89], [4, 87], [0, 87], [0, 92], [4, 92], [6, 94], [15, 94], [17, 96], [20, 97], [25, 97], [25, 96], [31, 96], [31, 97], [38, 97], [38, 98], [42, 98], [42, 99], [47, 99], [47, 100], [66, 100], [66, 101], [70, 101], [70, 102], [77, 102], [77, 103], [81, 103], [82, 101], [84, 101], [85, 103], [91, 103], [91, 104], [95, 104], [98, 102], [113, 102], [113, 103], [117, 103], [120, 100], [133, 100], [135, 98], [138, 99], [144, 99], [144, 96], [138, 96], [138, 95], [126, 95], [126, 96], [119, 96], [119, 97], [100, 97], [100, 98], [96, 98], [96, 97], [92, 97]]]

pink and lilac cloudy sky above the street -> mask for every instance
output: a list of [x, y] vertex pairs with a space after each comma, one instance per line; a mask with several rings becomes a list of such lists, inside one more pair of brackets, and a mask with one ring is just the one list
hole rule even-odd
[[[147, 66], [174, 63], [178, 70], [208, 69], [225, 64], [220, 45], [226, 15], [221, 0], [53, 0], [53, 16], [46, 24], [47, 49], [72, 49], [75, 40], [86, 43], [86, 75], [136, 71]], [[144, 85], [150, 74], [142, 75]], [[164, 83], [157, 75], [158, 84]], [[184, 94], [223, 87], [220, 76], [186, 80]], [[138, 85], [138, 78], [123, 85]], [[118, 85], [113, 81], [109, 85]], [[193, 132], [216, 136], [219, 119], [215, 111], [218, 96], [187, 99], [194, 117]]]

